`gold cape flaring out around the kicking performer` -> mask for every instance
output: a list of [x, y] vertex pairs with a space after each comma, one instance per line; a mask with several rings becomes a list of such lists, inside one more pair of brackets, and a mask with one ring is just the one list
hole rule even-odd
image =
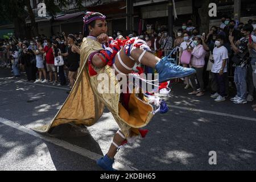
[[[96, 40], [83, 39], [80, 51], [80, 71], [75, 86], [55, 118], [47, 125], [36, 127], [34, 130], [47, 133], [52, 127], [69, 122], [76, 125], [92, 126], [100, 119], [105, 106], [113, 114], [115, 121], [127, 138], [139, 135], [138, 129], [150, 122], [153, 117], [153, 108], [147, 104], [143, 95], [137, 97], [136, 94], [131, 94], [129, 111], [127, 111], [119, 102], [119, 93], [100, 94], [97, 91], [99, 81], [97, 76], [89, 76], [87, 62], [91, 53], [102, 49], [102, 44]], [[98, 70], [97, 73], [98, 75], [100, 73], [107, 74], [110, 80], [114, 80], [115, 87], [120, 88], [113, 69], [108, 65]]]

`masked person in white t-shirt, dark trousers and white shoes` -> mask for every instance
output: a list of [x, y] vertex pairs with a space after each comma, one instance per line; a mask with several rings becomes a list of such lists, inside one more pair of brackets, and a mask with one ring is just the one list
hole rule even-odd
[[222, 102], [225, 101], [226, 95], [226, 77], [228, 77], [228, 49], [224, 45], [224, 36], [218, 35], [215, 42], [215, 48], [213, 49], [213, 61], [212, 73], [214, 74], [214, 81], [217, 82], [218, 90], [216, 93], [212, 94], [214, 101]]

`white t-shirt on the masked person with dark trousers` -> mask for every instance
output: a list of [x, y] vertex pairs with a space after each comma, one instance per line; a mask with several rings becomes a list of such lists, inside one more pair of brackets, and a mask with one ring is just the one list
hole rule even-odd
[[[215, 47], [213, 49], [213, 59], [214, 59], [214, 64], [212, 66], [212, 72], [213, 73], [220, 73], [220, 70], [222, 68], [222, 63], [224, 59], [228, 59], [229, 54], [228, 54], [228, 49], [226, 49], [224, 46], [221, 46], [220, 48]], [[228, 67], [227, 63], [224, 68], [224, 73], [228, 72]]]

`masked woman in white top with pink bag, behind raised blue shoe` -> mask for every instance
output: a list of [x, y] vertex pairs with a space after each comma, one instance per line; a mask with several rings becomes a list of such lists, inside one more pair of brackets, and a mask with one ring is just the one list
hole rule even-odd
[[[191, 36], [191, 32], [187, 32], [184, 34], [184, 42], [180, 44], [180, 63], [185, 68], [189, 68], [189, 63], [191, 61], [191, 50], [194, 47], [193, 41], [189, 40]], [[189, 51], [188, 51], [189, 50]], [[186, 85], [184, 89], [189, 88], [189, 78], [184, 78], [184, 84]]]

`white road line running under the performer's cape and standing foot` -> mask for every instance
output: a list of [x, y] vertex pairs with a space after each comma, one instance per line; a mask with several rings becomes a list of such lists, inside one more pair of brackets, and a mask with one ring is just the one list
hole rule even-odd
[[[0, 117], [0, 123], [2, 123], [3, 125], [6, 125], [6, 126], [13, 127], [14, 129], [22, 131], [24, 133], [30, 134], [30, 135], [32, 135], [36, 138], [43, 139], [43, 140], [45, 140], [49, 143], [55, 144], [56, 146], [60, 146], [60, 147], [65, 148], [69, 151], [76, 152], [77, 154], [85, 156], [86, 158], [89, 158], [89, 159], [92, 159], [92, 160], [96, 161], [97, 159], [100, 159], [102, 157], [101, 155], [98, 155], [94, 152], [86, 150], [85, 148], [75, 146], [71, 143], [65, 142], [65, 141], [57, 139], [57, 138], [47, 137], [46, 135], [36, 133], [35, 131], [29, 129], [28, 127], [19, 125], [18, 123], [15, 123], [13, 121], [9, 121], [9, 120], [1, 118], [1, 117]], [[124, 170], [124, 171], [138, 170], [134, 167], [126, 166], [125, 164], [119, 163], [117, 161], [115, 161], [114, 168], [118, 169], [120, 171], [122, 171], [122, 170]]]

